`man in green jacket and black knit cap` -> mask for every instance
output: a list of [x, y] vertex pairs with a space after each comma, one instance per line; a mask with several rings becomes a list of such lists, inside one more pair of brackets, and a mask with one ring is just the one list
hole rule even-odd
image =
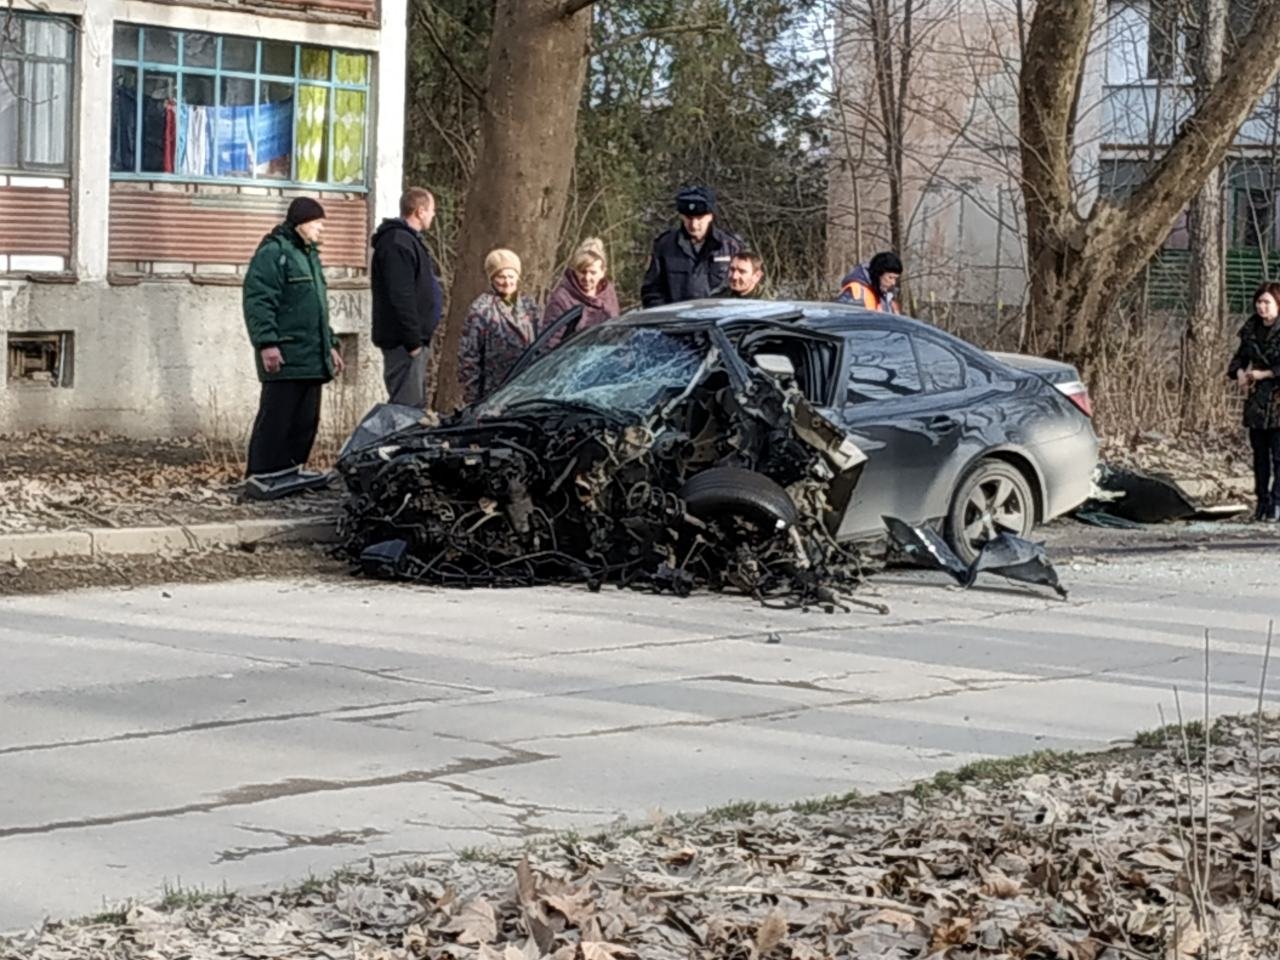
[[262, 238], [244, 274], [244, 325], [262, 383], [248, 442], [248, 476], [307, 462], [320, 426], [320, 390], [343, 370], [338, 338], [329, 328], [319, 253], [323, 234], [324, 207], [298, 197], [284, 223]]

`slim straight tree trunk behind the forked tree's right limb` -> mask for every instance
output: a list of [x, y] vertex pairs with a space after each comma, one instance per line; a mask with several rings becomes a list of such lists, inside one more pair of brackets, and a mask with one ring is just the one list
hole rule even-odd
[[[1196, 100], [1204, 100], [1222, 76], [1226, 0], [1201, 0], [1194, 67]], [[1183, 340], [1183, 429], [1208, 426], [1213, 393], [1222, 388], [1222, 168], [1215, 166], [1192, 200], [1190, 312]]]

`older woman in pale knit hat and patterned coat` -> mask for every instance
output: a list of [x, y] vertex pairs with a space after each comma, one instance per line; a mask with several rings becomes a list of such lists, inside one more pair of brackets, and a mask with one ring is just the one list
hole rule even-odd
[[541, 332], [538, 303], [520, 292], [520, 257], [498, 248], [484, 259], [489, 289], [475, 298], [462, 321], [458, 383], [465, 403], [495, 390]]

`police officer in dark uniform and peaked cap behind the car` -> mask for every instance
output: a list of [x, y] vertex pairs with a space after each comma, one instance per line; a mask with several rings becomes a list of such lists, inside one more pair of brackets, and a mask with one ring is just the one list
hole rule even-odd
[[710, 297], [728, 280], [728, 266], [742, 248], [731, 233], [714, 225], [716, 193], [709, 187], [689, 187], [676, 195], [680, 227], [653, 242], [653, 256], [640, 285], [646, 307]]

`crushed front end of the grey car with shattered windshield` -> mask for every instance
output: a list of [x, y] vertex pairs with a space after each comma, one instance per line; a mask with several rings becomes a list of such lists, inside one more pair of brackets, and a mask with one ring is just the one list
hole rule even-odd
[[860, 567], [833, 532], [865, 457], [792, 372], [719, 328], [588, 332], [443, 425], [357, 430], [340, 549], [433, 584], [842, 605]]

